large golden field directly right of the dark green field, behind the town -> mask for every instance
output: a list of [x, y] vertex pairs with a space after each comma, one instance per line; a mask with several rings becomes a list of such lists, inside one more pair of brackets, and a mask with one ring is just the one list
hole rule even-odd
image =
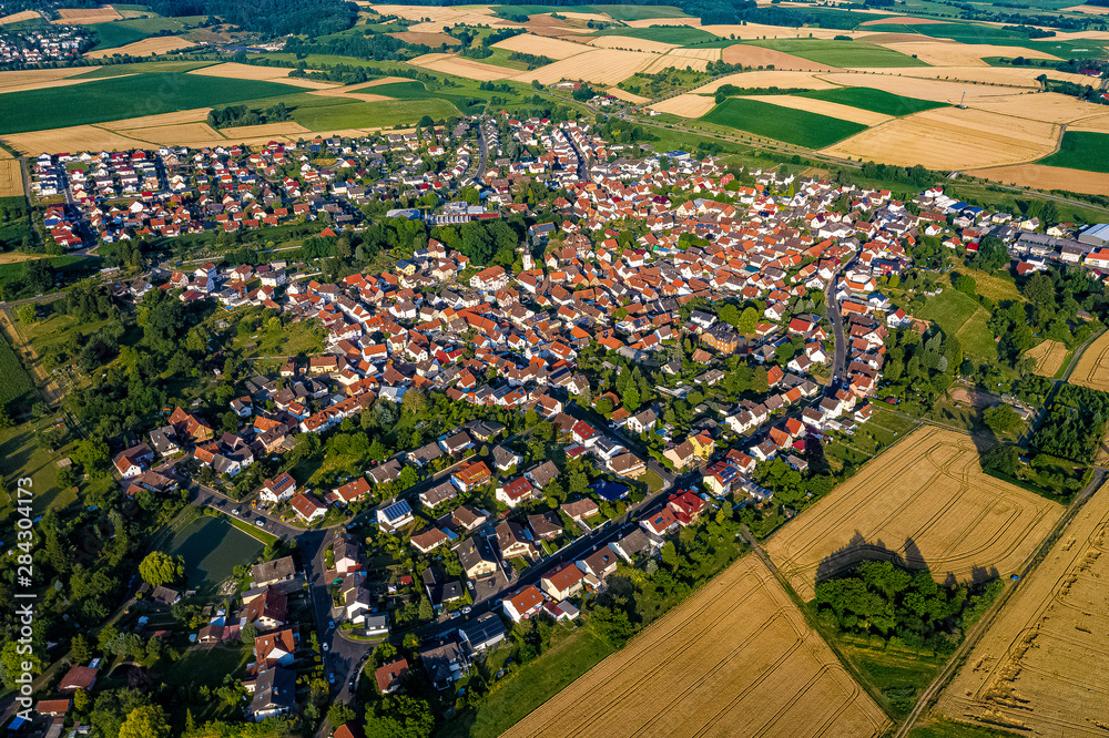
[[863, 131], [825, 148], [837, 156], [934, 170], [1019, 164], [1055, 151], [1059, 126], [980, 110], [940, 107]]

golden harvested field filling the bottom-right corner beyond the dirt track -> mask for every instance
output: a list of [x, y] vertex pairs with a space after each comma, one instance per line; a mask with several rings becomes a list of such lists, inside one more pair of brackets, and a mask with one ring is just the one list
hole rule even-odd
[[1027, 735], [1102, 737], [1109, 725], [1105, 582], [1109, 490], [1086, 502], [1017, 586], [935, 711]]

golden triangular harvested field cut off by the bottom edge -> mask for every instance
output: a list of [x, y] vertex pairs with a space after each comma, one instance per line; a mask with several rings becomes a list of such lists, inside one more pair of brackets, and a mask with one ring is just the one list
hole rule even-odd
[[749, 555], [505, 736], [861, 738], [888, 726]]

